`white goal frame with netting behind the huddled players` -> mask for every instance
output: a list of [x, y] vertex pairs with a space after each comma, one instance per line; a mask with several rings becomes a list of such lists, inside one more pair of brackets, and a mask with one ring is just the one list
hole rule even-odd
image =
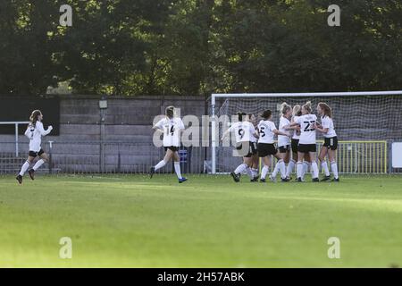
[[[339, 150], [339, 153], [348, 153], [340, 156], [344, 160], [344, 172], [354, 172], [353, 168], [357, 172], [387, 172], [387, 140], [402, 139], [402, 90], [212, 94], [210, 172], [228, 172], [224, 163], [218, 165], [218, 159], [223, 161], [221, 157], [218, 158], [217, 149], [222, 151], [223, 147], [219, 144], [222, 130], [217, 118], [222, 115], [231, 116], [239, 111], [258, 115], [264, 109], [271, 109], [276, 114], [273, 120], [278, 124], [278, 105], [282, 102], [301, 105], [306, 101], [312, 101], [313, 105], [324, 101], [335, 107], [335, 129], [339, 131], [339, 140], [343, 140], [345, 148]], [[392, 114], [396, 110], [398, 114]], [[381, 157], [381, 160], [377, 160], [377, 157]], [[365, 164], [364, 160], [367, 161]]]

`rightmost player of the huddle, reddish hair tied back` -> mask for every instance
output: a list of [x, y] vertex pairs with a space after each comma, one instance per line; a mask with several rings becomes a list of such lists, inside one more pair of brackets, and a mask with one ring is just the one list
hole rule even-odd
[[322, 170], [325, 172], [325, 177], [322, 181], [331, 180], [330, 170], [328, 169], [328, 164], [325, 159], [326, 156], [328, 156], [328, 159], [331, 162], [331, 170], [333, 173], [332, 181], [339, 181], [338, 165], [336, 162], [338, 137], [333, 127], [331, 107], [325, 103], [319, 103], [317, 105], [317, 113], [321, 116], [321, 124], [316, 124], [315, 130], [322, 132], [324, 137], [324, 144], [321, 148], [320, 155], [318, 156]]

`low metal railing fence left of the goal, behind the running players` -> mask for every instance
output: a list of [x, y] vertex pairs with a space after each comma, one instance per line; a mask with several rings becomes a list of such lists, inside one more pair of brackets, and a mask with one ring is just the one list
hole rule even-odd
[[[0, 145], [0, 173], [19, 172], [28, 151], [15, 156], [10, 151], [15, 142]], [[49, 155], [49, 162], [39, 171], [49, 173], [147, 173], [165, 153], [163, 147], [153, 144], [127, 142], [44, 142], [42, 147]], [[181, 172], [205, 172], [204, 147], [181, 147], [179, 153]], [[174, 172], [174, 168], [168, 164], [159, 172]]]

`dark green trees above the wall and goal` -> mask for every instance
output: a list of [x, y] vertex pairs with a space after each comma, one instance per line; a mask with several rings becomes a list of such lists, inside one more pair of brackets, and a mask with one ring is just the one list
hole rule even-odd
[[[400, 89], [402, 4], [13, 0], [0, 4], [0, 94], [191, 95]], [[59, 25], [70, 4], [72, 27]]]

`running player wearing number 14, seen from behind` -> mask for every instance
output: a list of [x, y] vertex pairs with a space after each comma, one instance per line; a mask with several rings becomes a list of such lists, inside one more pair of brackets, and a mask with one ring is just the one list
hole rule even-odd
[[178, 152], [180, 147], [180, 134], [181, 130], [184, 130], [184, 124], [180, 117], [176, 117], [174, 106], [166, 107], [165, 115], [166, 117], [157, 122], [153, 129], [159, 130], [163, 133], [163, 147], [166, 154], [161, 162], [151, 167], [149, 173], [152, 178], [157, 170], [163, 168], [169, 163], [169, 161], [171, 161], [171, 159], [173, 159], [174, 171], [179, 179], [179, 183], [182, 183], [183, 181], [188, 180], [181, 176], [180, 156]]

